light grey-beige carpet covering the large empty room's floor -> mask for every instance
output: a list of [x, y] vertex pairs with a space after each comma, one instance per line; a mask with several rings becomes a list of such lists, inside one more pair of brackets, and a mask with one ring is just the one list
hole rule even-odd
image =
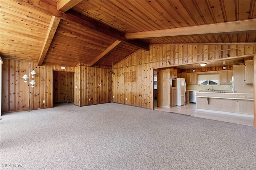
[[8, 113], [0, 128], [1, 169], [256, 169], [254, 127], [116, 103]]

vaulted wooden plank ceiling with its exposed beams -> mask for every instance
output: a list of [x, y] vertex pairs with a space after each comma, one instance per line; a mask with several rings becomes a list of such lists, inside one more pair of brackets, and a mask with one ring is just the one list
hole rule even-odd
[[111, 67], [150, 44], [256, 43], [255, 0], [1, 0], [2, 58]]

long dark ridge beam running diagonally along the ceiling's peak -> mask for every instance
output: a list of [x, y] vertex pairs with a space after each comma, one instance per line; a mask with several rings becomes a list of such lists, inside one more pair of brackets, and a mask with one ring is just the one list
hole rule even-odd
[[63, 12], [58, 11], [56, 6], [48, 4], [44, 1], [32, 0], [32, 1], [29, 1], [29, 3], [27, 1], [23, 1], [23, 0], [15, 0], [15, 1], [20, 5], [24, 5], [29, 8], [34, 8], [35, 10], [38, 10], [40, 12], [43, 12], [43, 13], [51, 15], [51, 16], [56, 16], [58, 18], [61, 18], [64, 21], [73, 23], [75, 25], [80, 25], [81, 27], [84, 27], [85, 29], [90, 29], [90, 31], [102, 33], [102, 34], [104, 34], [105, 37], [114, 38], [119, 41], [122, 41], [123, 43], [127, 43], [134, 47], [149, 51], [148, 43], [141, 41], [141, 40], [126, 39], [125, 33], [122, 33], [116, 29], [113, 29], [112, 27], [109, 27], [108, 25], [105, 25], [105, 24], [100, 23], [96, 20], [93, 20], [87, 16], [84, 16], [78, 12], [75, 12], [72, 9], [68, 10], [68, 12], [66, 12], [66, 13], [63, 13]]

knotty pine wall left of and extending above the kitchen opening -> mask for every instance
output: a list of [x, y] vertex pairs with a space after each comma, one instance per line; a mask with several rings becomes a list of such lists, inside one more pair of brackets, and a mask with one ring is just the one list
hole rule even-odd
[[[113, 102], [153, 108], [154, 68], [253, 56], [256, 45], [150, 45], [114, 65]], [[126, 100], [127, 99], [127, 100]]]

